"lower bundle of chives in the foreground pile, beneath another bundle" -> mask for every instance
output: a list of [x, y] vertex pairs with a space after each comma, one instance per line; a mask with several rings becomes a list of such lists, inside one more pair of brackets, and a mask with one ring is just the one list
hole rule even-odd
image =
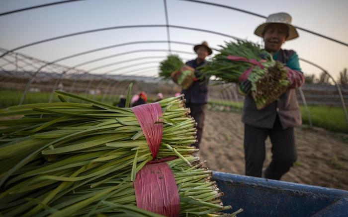
[[[219, 211], [231, 209], [223, 206], [220, 197], [223, 193], [211, 181], [212, 172], [203, 168], [198, 157], [185, 157], [193, 166], [188, 166], [181, 159], [167, 162], [170, 166], [178, 189], [180, 200], [179, 216], [220, 216]], [[38, 200], [27, 199], [27, 202], [17, 209], [9, 208], [8, 215], [18, 215], [29, 204], [41, 204]], [[127, 209], [125, 209], [125, 207]], [[18, 210], [19, 209], [19, 210]], [[241, 211], [239, 211], [241, 212]], [[134, 217], [160, 216], [143, 213], [136, 207], [136, 196], [130, 174], [109, 174], [81, 185], [75, 182], [69, 192], [59, 198], [54, 198], [49, 206], [43, 206], [35, 216], [122, 216]], [[236, 213], [235, 213], [236, 214]], [[234, 214], [234, 215], [235, 215]], [[234, 216], [230, 215], [230, 216]]]

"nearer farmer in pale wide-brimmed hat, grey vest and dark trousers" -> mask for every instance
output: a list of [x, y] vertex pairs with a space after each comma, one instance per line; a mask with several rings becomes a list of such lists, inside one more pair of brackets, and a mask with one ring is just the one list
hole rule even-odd
[[[304, 76], [296, 52], [281, 49], [285, 41], [297, 38], [298, 33], [291, 25], [289, 14], [275, 13], [256, 28], [255, 34], [262, 37], [264, 49], [273, 55], [273, 59], [285, 65], [290, 88], [275, 102], [260, 110], [256, 108], [253, 98], [246, 96], [242, 114], [245, 123], [246, 175], [279, 180], [296, 161], [294, 127], [302, 124], [295, 88], [303, 85]], [[247, 84], [244, 83], [246, 88], [242, 91], [250, 93], [250, 82], [244, 82]], [[262, 170], [267, 136], [272, 143], [272, 161]]]

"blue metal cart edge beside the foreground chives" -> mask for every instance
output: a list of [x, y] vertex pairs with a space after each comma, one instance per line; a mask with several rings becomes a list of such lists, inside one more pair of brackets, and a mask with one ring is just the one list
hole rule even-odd
[[213, 172], [224, 205], [238, 217], [348, 217], [348, 191]]

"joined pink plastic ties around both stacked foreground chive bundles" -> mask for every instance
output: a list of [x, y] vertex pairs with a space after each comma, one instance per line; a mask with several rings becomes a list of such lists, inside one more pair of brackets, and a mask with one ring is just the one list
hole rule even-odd
[[177, 217], [179, 194], [172, 170], [164, 163], [174, 160], [176, 156], [156, 159], [163, 135], [163, 124], [155, 123], [160, 122], [159, 117], [163, 115], [161, 106], [159, 103], [144, 104], [133, 107], [132, 110], [154, 159], [136, 174], [134, 190], [137, 207], [160, 215]]

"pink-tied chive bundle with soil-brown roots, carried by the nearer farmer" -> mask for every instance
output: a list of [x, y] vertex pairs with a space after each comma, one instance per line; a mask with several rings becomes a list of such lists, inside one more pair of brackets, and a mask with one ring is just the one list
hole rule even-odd
[[248, 79], [258, 109], [274, 102], [288, 89], [290, 83], [284, 65], [274, 61], [259, 45], [239, 40], [220, 47], [220, 53], [203, 66], [201, 72], [214, 75], [223, 82], [237, 83]]

